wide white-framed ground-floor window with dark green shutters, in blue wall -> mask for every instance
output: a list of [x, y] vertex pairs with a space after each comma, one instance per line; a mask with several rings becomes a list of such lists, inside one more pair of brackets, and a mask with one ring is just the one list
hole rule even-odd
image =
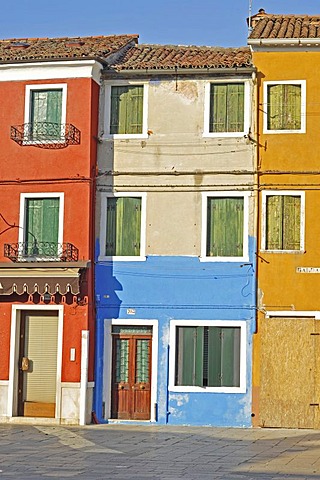
[[174, 322], [173, 390], [245, 388], [245, 323], [225, 323]]

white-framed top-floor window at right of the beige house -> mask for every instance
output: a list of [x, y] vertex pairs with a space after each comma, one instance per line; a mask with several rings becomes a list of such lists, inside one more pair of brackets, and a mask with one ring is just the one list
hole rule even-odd
[[205, 136], [241, 136], [249, 130], [248, 82], [214, 82], [206, 86]]

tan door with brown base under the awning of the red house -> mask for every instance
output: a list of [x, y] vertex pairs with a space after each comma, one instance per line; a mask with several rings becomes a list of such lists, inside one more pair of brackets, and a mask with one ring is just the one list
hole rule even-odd
[[18, 415], [55, 417], [58, 316], [24, 312], [20, 323]]

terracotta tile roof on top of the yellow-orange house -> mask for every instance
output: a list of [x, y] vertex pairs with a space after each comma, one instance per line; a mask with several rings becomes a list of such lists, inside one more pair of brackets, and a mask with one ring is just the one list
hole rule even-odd
[[261, 9], [251, 20], [249, 40], [320, 38], [320, 15], [271, 15]]

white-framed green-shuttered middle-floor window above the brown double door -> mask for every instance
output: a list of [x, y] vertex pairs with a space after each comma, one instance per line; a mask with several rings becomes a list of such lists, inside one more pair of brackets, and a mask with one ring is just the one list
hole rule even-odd
[[110, 194], [102, 203], [102, 256], [141, 260], [145, 250], [145, 195]]

